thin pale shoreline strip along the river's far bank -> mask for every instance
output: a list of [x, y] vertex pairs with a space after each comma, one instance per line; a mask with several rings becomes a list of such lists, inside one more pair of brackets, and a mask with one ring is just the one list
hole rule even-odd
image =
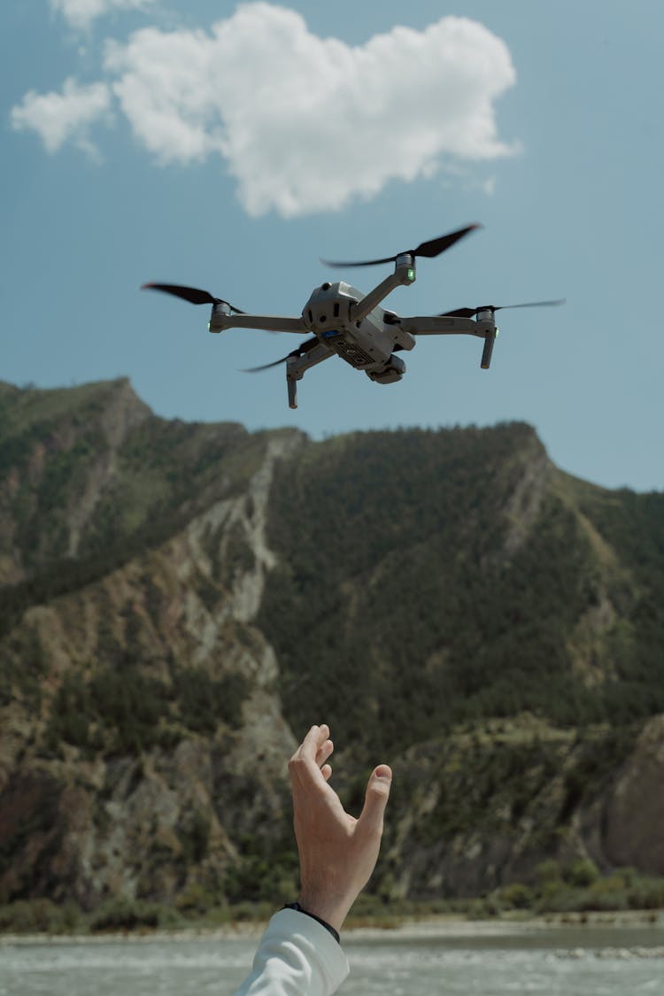
[[[370, 920], [367, 917], [367, 920]], [[246, 940], [254, 941], [262, 935], [267, 920], [239, 921], [223, 926], [200, 925], [177, 929], [136, 929], [127, 931], [101, 931], [99, 933], [0, 933], [0, 948], [9, 946], [59, 945], [59, 944], [116, 944], [159, 943], [162, 941]], [[385, 925], [371, 922], [352, 923], [342, 930], [350, 941], [394, 938], [398, 940], [433, 940], [435, 938], [488, 938], [524, 936], [544, 931], [593, 930], [607, 932], [652, 930], [664, 935], [664, 910], [634, 909], [589, 911], [584, 913], [548, 913], [533, 916], [503, 914], [491, 919], [469, 919], [453, 913], [439, 913], [418, 917], [395, 917]], [[659, 939], [659, 938], [657, 938]]]

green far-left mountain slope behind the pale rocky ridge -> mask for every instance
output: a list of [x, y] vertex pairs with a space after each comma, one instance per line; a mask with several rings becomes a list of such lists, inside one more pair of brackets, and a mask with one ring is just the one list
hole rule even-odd
[[242, 493], [267, 435], [235, 423], [165, 422], [125, 380], [48, 391], [4, 385], [0, 517], [10, 528], [0, 529], [0, 632], [29, 606], [177, 535], [211, 495]]

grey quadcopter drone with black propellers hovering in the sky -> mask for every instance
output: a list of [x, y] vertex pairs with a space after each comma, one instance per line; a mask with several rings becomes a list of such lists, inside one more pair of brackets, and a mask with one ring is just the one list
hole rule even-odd
[[298, 407], [298, 380], [312, 367], [340, 357], [355, 370], [363, 371], [375, 383], [395, 383], [406, 372], [397, 353], [415, 347], [419, 336], [475, 336], [484, 341], [482, 370], [489, 370], [494, 343], [499, 330], [496, 312], [504, 308], [542, 308], [561, 305], [559, 301], [533, 301], [523, 305], [481, 305], [479, 308], [458, 308], [440, 315], [402, 318], [380, 307], [391, 291], [415, 282], [415, 260], [434, 259], [470, 232], [481, 227], [468, 225], [456, 232], [422, 242], [416, 249], [407, 249], [396, 256], [355, 262], [322, 260], [330, 267], [379, 266], [393, 263], [394, 272], [385, 277], [368, 294], [343, 281], [326, 281], [317, 287], [305, 305], [302, 315], [290, 318], [279, 315], [249, 315], [228, 301], [215, 298], [208, 291], [177, 284], [143, 284], [144, 289], [162, 291], [182, 298], [193, 305], [211, 305], [208, 324], [211, 333], [226, 329], [264, 329], [268, 332], [310, 334], [309, 339], [274, 363], [253, 367], [245, 373], [258, 373], [286, 364], [289, 407]]

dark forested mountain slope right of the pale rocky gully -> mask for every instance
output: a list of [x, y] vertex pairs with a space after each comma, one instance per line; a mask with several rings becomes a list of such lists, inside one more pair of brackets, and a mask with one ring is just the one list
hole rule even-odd
[[567, 478], [527, 425], [311, 446], [279, 468], [269, 540], [259, 620], [298, 728], [402, 748], [524, 710], [664, 710], [664, 495]]

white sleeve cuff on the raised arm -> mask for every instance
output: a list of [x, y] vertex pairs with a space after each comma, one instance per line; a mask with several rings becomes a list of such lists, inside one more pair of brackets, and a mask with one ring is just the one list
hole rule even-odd
[[332, 996], [348, 974], [340, 944], [312, 916], [280, 909], [233, 996]]

